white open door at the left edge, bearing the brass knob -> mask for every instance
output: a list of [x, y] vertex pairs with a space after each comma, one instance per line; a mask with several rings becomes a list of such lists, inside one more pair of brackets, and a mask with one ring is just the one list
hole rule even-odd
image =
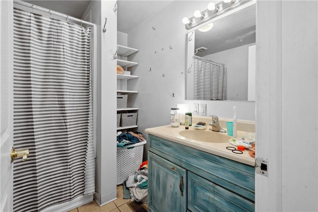
[[0, 1], [0, 211], [13, 211], [13, 163], [10, 160], [12, 138], [12, 62], [13, 1]]

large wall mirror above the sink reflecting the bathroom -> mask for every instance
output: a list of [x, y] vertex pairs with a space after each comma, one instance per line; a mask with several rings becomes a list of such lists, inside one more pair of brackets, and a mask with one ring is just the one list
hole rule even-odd
[[[213, 18], [186, 34], [185, 99], [187, 100], [240, 100], [255, 101], [256, 69], [256, 4], [227, 12], [222, 18]], [[213, 23], [212, 29], [200, 31], [202, 26]], [[203, 48], [202, 48], [203, 47]], [[194, 56], [195, 55], [195, 56]], [[197, 70], [208, 72], [209, 65], [196, 65], [198, 60], [212, 61], [226, 67], [222, 76], [198, 76]], [[214, 69], [214, 68], [213, 68]], [[209, 98], [204, 93], [220, 89], [222, 85], [208, 87], [215, 78], [222, 78], [225, 98]], [[218, 94], [220, 95], [220, 94]]]

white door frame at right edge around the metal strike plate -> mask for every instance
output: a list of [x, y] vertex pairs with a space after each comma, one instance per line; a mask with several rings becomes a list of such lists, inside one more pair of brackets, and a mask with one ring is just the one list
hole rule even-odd
[[256, 14], [255, 156], [268, 176], [255, 174], [255, 211], [317, 212], [318, 1], [258, 0]]

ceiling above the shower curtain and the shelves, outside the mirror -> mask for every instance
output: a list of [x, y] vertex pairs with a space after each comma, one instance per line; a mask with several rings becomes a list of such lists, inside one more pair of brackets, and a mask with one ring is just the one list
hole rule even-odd
[[[24, 0], [81, 19], [91, 0]], [[173, 0], [118, 0], [117, 30], [129, 33]]]

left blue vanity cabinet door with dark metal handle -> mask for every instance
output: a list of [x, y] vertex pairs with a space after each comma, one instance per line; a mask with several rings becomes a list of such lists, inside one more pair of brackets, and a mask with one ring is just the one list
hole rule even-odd
[[151, 212], [186, 212], [186, 170], [148, 152], [148, 208]]

